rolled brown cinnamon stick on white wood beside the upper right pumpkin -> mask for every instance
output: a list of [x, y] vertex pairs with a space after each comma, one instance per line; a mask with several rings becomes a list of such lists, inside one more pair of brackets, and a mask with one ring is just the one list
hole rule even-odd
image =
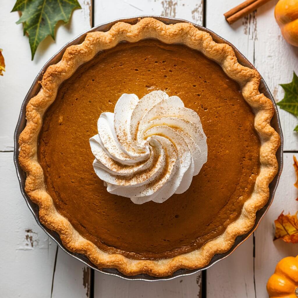
[[269, 0], [246, 0], [238, 6], [232, 8], [228, 12], [224, 13], [226, 21], [229, 24], [233, 24], [238, 21], [240, 18], [248, 15], [249, 13], [256, 10], [258, 7], [267, 3]]

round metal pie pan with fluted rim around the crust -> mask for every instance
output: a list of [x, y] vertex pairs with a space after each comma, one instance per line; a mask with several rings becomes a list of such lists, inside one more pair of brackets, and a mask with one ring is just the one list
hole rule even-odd
[[[91, 28], [90, 30], [82, 33], [81, 35], [77, 36], [76, 38], [74, 38], [72, 41], [70, 41], [69, 43], [67, 43], [65, 46], [63, 46], [51, 59], [49, 59], [49, 61], [44, 65], [44, 67], [41, 69], [41, 71], [38, 73], [37, 77], [35, 78], [30, 90], [28, 91], [24, 102], [21, 106], [21, 112], [20, 112], [20, 116], [18, 119], [18, 123], [17, 126], [15, 128], [15, 133], [14, 133], [14, 163], [15, 163], [15, 168], [16, 168], [16, 172], [17, 172], [17, 176], [18, 176], [18, 180], [20, 183], [20, 188], [21, 188], [21, 193], [25, 198], [25, 201], [29, 207], [29, 209], [31, 210], [32, 214], [35, 217], [35, 220], [37, 221], [38, 225], [46, 232], [46, 234], [49, 235], [49, 237], [51, 237], [57, 244], [58, 246], [60, 246], [60, 248], [66, 252], [67, 254], [71, 255], [72, 257], [76, 258], [77, 260], [80, 260], [81, 262], [83, 262], [85, 265], [89, 266], [90, 268], [93, 268], [96, 271], [99, 271], [101, 273], [104, 274], [108, 274], [108, 275], [114, 275], [114, 276], [118, 276], [121, 277], [123, 279], [126, 280], [143, 280], [143, 281], [159, 281], [159, 280], [171, 280], [177, 277], [182, 277], [182, 276], [186, 276], [186, 275], [190, 275], [190, 274], [194, 274], [197, 273], [201, 270], [207, 269], [209, 267], [211, 267], [212, 265], [214, 265], [215, 263], [217, 263], [220, 260], [223, 260], [224, 258], [228, 257], [230, 254], [232, 254], [232, 252], [242, 243], [244, 242], [253, 232], [254, 230], [257, 228], [260, 220], [263, 218], [263, 216], [265, 215], [265, 213], [267, 212], [268, 208], [270, 207], [272, 201], [273, 201], [273, 197], [274, 197], [274, 193], [275, 190], [277, 188], [277, 184], [278, 181], [280, 179], [280, 174], [283, 168], [283, 134], [281, 131], [281, 126], [280, 126], [280, 119], [278, 116], [278, 111], [277, 111], [277, 107], [276, 104], [274, 102], [274, 99], [268, 89], [268, 86], [266, 85], [265, 81], [263, 80], [263, 78], [261, 78], [261, 83], [260, 83], [260, 92], [264, 93], [266, 95], [266, 97], [268, 97], [274, 106], [274, 116], [271, 120], [271, 125], [272, 127], [278, 132], [278, 134], [280, 135], [280, 139], [281, 139], [281, 145], [280, 148], [277, 151], [277, 161], [278, 161], [278, 173], [275, 176], [275, 178], [273, 179], [273, 181], [271, 182], [271, 184], [269, 185], [269, 189], [270, 189], [270, 196], [269, 196], [269, 200], [266, 204], [266, 206], [264, 206], [262, 209], [260, 209], [257, 214], [256, 214], [256, 221], [254, 224], [254, 227], [252, 228], [251, 231], [249, 231], [247, 234], [245, 235], [241, 235], [238, 236], [235, 240], [234, 245], [232, 246], [232, 248], [228, 251], [225, 252], [223, 254], [215, 254], [214, 257], [212, 257], [210, 263], [208, 264], [208, 266], [205, 266], [203, 268], [199, 268], [199, 269], [194, 269], [194, 270], [187, 270], [187, 269], [179, 269], [177, 271], [175, 271], [173, 273], [173, 275], [168, 276], [168, 277], [152, 277], [149, 276], [148, 274], [138, 274], [138, 275], [134, 275], [134, 276], [127, 276], [122, 274], [121, 272], [119, 272], [117, 269], [115, 268], [103, 268], [103, 269], [99, 269], [97, 268], [93, 263], [91, 263], [89, 261], [89, 259], [83, 255], [83, 254], [77, 254], [74, 252], [70, 252], [69, 250], [67, 250], [61, 240], [60, 237], [58, 235], [58, 233], [46, 228], [43, 224], [41, 224], [40, 220], [39, 220], [39, 216], [38, 216], [38, 205], [34, 204], [30, 198], [28, 197], [28, 195], [26, 194], [24, 187], [25, 187], [25, 180], [26, 180], [26, 173], [22, 170], [22, 168], [19, 165], [18, 162], [18, 153], [19, 153], [19, 146], [18, 146], [18, 138], [20, 133], [23, 131], [25, 125], [26, 125], [26, 105], [29, 102], [29, 100], [35, 96], [38, 91], [40, 90], [40, 84], [38, 83], [38, 81], [40, 81], [42, 79], [42, 76], [45, 72], [45, 70], [48, 68], [48, 66], [58, 63], [58, 61], [61, 60], [62, 55], [65, 51], [65, 49], [69, 46], [72, 45], [76, 45], [76, 44], [81, 44], [85, 37], [86, 34], [88, 32], [94, 32], [94, 31], [108, 31], [115, 23], [122, 21], [122, 22], [127, 22], [129, 24], [136, 24], [136, 22], [138, 21], [139, 18], [144, 18], [144, 17], [152, 17], [152, 18], [156, 18], [159, 21], [164, 22], [165, 24], [176, 24], [179, 22], [187, 22], [185, 20], [182, 19], [177, 19], [177, 18], [168, 18], [168, 17], [162, 17], [162, 16], [155, 16], [155, 15], [142, 15], [142, 16], [136, 16], [136, 17], [132, 17], [132, 18], [121, 18], [121, 19], [117, 19], [105, 24], [101, 24], [98, 25], [96, 27]], [[193, 23], [192, 23], [193, 24]], [[213, 40], [216, 41], [217, 43], [226, 43], [229, 44], [230, 46], [232, 46], [232, 48], [234, 49], [236, 56], [238, 58], [239, 63], [241, 63], [244, 66], [247, 66], [249, 68], [254, 68], [254, 66], [235, 48], [235, 46], [233, 46], [232, 44], [230, 44], [228, 41], [226, 41], [224, 38], [221, 38], [220, 36], [218, 36], [217, 34], [215, 34], [214, 32], [212, 32], [211, 30], [199, 26], [197, 24], [193, 24], [196, 28], [198, 28], [199, 30], [202, 31], [206, 31], [208, 33], [210, 33], [210, 35], [212, 36]]]

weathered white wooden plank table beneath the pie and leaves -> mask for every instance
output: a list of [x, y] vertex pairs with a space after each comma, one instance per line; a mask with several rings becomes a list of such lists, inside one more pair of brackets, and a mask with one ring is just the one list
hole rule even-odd
[[[13, 164], [13, 131], [21, 103], [44, 63], [66, 42], [97, 25], [136, 15], [165, 15], [204, 24], [243, 53], [258, 69], [278, 102], [279, 83], [298, 73], [298, 48], [287, 44], [274, 21], [277, 1], [259, 8], [229, 26], [223, 13], [240, 0], [79, 0], [70, 24], [59, 25], [56, 41], [46, 38], [31, 61], [27, 37], [16, 25], [18, 13], [10, 13], [14, 1], [1, 1], [0, 48], [7, 71], [0, 77], [1, 261], [0, 297], [200, 297], [201, 274], [166, 282], [126, 281], [90, 270], [69, 257], [38, 227], [18, 186]], [[93, 19], [92, 19], [93, 18]], [[296, 212], [293, 153], [298, 150], [297, 119], [279, 110], [284, 134], [284, 169], [274, 202], [257, 231], [225, 260], [207, 270], [207, 293], [213, 297], [267, 297], [266, 283], [276, 263], [296, 255], [298, 244], [273, 242], [274, 219], [281, 211]], [[298, 155], [298, 153], [297, 153]], [[205, 291], [206, 288], [203, 289]]]

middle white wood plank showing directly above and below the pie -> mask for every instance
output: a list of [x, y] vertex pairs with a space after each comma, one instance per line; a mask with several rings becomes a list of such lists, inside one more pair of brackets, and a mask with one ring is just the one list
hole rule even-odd
[[[164, 15], [203, 23], [203, 1], [115, 0], [94, 1], [94, 25], [136, 15]], [[127, 281], [95, 273], [94, 297], [200, 297], [201, 274], [171, 281]]]

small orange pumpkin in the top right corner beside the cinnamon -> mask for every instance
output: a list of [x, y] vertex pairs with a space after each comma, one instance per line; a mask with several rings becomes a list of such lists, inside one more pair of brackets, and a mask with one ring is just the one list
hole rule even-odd
[[298, 46], [298, 1], [278, 1], [274, 15], [285, 40], [293, 46]]

